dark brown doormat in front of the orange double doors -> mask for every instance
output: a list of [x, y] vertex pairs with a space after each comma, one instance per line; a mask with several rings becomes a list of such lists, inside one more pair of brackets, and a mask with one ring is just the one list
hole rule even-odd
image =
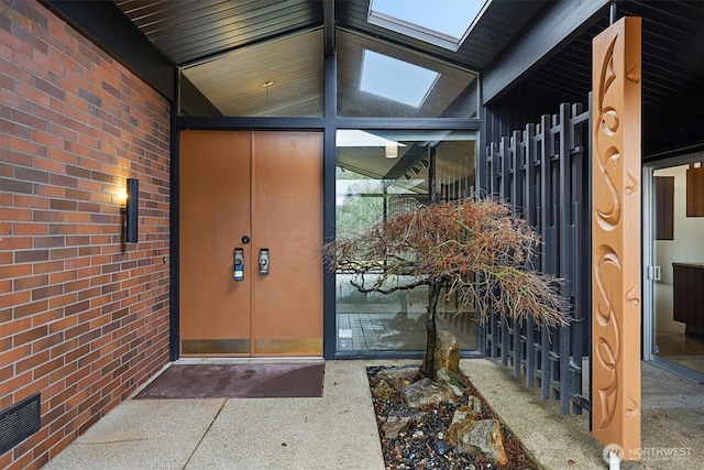
[[135, 398], [322, 396], [324, 362], [172, 364]]

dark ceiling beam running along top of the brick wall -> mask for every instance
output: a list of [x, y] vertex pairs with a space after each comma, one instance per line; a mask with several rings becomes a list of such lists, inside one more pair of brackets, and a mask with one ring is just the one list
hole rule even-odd
[[166, 98], [175, 98], [174, 65], [111, 1], [53, 1], [42, 4], [70, 23]]

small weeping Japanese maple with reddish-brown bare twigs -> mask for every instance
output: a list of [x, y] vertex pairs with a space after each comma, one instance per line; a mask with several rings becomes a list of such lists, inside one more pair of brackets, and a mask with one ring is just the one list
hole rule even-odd
[[484, 198], [418, 204], [360, 236], [338, 237], [324, 244], [323, 254], [329, 269], [353, 274], [351, 284], [362, 293], [429, 287], [421, 372], [435, 378], [443, 286], [461, 306], [476, 305], [482, 323], [492, 313], [507, 320], [531, 316], [539, 326], [569, 321], [563, 280], [534, 269], [539, 247], [538, 233], [508, 205]]

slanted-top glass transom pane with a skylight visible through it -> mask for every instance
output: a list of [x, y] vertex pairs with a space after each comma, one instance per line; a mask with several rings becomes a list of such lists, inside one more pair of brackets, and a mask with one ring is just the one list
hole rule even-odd
[[[339, 116], [477, 117], [476, 74], [346, 31], [336, 41]], [[411, 84], [424, 86], [414, 99]]]

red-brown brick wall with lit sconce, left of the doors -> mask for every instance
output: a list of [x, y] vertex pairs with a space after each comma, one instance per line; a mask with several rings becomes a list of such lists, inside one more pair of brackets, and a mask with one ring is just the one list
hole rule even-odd
[[42, 400], [0, 468], [41, 467], [168, 361], [168, 113], [38, 2], [0, 0], [0, 413]]

